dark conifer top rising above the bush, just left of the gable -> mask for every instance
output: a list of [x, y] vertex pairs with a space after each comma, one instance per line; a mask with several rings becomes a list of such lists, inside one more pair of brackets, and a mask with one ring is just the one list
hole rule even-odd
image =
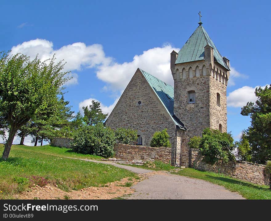
[[103, 114], [102, 109], [100, 108], [100, 102], [92, 100], [92, 104], [88, 107], [83, 107], [84, 111], [84, 122], [87, 125], [95, 125], [97, 123], [102, 123], [108, 114]]

